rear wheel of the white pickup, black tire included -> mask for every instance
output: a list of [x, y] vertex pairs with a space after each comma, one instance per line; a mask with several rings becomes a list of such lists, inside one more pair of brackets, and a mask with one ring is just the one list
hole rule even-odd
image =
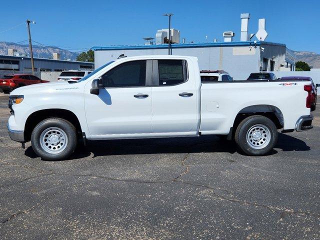
[[269, 118], [253, 115], [240, 122], [235, 130], [234, 140], [237, 147], [247, 155], [265, 155], [275, 146], [278, 132]]

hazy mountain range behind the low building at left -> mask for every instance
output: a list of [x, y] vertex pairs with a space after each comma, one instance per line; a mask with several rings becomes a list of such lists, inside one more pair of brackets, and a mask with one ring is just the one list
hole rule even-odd
[[[16, 49], [17, 52], [21, 54], [25, 54], [27, 56], [30, 55], [29, 45], [28, 44], [14, 44], [13, 42], [0, 41], [0, 54], [7, 55], [8, 48]], [[72, 52], [66, 49], [62, 49], [54, 46], [41, 46], [32, 44], [33, 57], [40, 58], [52, 58], [53, 52], [60, 53], [61, 60], [75, 60], [76, 56], [79, 52]]]

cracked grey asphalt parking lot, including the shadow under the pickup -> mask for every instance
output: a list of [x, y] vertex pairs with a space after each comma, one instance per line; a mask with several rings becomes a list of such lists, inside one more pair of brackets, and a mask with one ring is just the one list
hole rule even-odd
[[319, 109], [268, 156], [206, 136], [91, 142], [44, 161], [9, 139], [0, 93], [0, 238], [319, 239]]

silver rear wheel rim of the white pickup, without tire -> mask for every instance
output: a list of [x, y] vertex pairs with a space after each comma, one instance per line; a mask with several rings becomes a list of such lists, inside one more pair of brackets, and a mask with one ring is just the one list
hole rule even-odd
[[270, 130], [263, 124], [251, 126], [246, 133], [246, 142], [254, 149], [261, 149], [267, 146], [270, 140]]

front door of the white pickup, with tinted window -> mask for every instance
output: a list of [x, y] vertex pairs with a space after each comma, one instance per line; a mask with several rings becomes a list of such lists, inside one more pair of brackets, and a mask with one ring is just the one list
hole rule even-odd
[[98, 95], [89, 93], [90, 86], [84, 91], [87, 126], [92, 138], [151, 133], [151, 60], [121, 63], [101, 78], [104, 88], [99, 89]]

